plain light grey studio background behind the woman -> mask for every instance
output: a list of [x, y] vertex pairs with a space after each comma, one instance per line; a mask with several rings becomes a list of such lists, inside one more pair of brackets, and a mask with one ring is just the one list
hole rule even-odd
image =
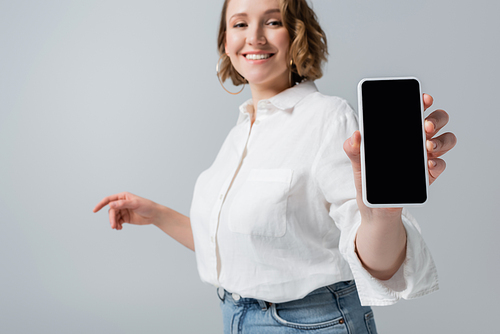
[[[375, 308], [379, 332], [493, 332], [500, 5], [312, 3], [330, 51], [320, 91], [357, 109], [361, 78], [417, 76], [459, 139], [411, 210], [441, 290]], [[221, 333], [194, 253], [91, 212], [129, 191], [189, 215], [250, 92], [230, 96], [215, 76], [221, 4], [0, 0], [0, 332]]]

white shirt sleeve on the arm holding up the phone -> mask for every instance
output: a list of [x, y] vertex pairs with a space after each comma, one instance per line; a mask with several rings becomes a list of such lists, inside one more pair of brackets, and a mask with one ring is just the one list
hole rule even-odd
[[358, 129], [357, 115], [343, 102], [326, 131], [313, 163], [312, 173], [325, 200], [329, 216], [340, 230], [339, 251], [351, 268], [363, 306], [384, 306], [399, 299], [412, 299], [438, 289], [434, 261], [416, 220], [403, 209], [406, 229], [406, 259], [389, 280], [374, 278], [361, 264], [354, 246], [361, 215], [356, 202], [352, 166], [344, 152], [344, 141]]

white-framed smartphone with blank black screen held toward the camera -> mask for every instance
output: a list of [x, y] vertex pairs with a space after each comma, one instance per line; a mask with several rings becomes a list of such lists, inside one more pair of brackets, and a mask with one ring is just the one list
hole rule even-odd
[[420, 81], [415, 77], [362, 79], [358, 107], [365, 205], [424, 204], [429, 179]]

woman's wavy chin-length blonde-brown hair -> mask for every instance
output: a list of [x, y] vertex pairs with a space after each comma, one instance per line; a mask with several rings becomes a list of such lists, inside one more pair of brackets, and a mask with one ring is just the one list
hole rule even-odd
[[[231, 78], [235, 86], [247, 83], [246, 79], [233, 67], [225, 52], [226, 11], [230, 0], [225, 0], [219, 25], [217, 46], [223, 56], [219, 75], [222, 82]], [[328, 47], [325, 32], [321, 29], [318, 18], [306, 0], [280, 0], [283, 26], [290, 35], [289, 59], [293, 61], [292, 86], [304, 79], [316, 80], [323, 76], [321, 66], [327, 61]]]

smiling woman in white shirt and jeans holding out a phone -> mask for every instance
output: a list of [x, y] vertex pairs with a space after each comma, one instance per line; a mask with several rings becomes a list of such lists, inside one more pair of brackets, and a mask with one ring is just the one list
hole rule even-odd
[[[363, 204], [357, 118], [313, 82], [327, 55], [314, 12], [305, 0], [226, 0], [218, 42], [221, 83], [248, 84], [252, 99], [199, 176], [191, 218], [129, 193], [94, 212], [109, 204], [112, 228], [154, 224], [196, 248], [226, 333], [375, 333], [369, 305], [432, 292], [437, 275], [406, 210]], [[426, 119], [431, 183], [456, 142], [434, 137], [447, 120]]]

